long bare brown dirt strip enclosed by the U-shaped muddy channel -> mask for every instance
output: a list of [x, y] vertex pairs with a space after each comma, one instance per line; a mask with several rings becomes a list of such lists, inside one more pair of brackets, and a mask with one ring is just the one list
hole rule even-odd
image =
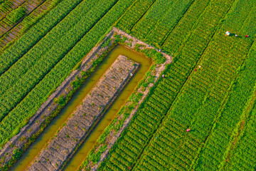
[[89, 135], [138, 66], [125, 56], [119, 56], [28, 170], [59, 170], [72, 157], [75, 147]]

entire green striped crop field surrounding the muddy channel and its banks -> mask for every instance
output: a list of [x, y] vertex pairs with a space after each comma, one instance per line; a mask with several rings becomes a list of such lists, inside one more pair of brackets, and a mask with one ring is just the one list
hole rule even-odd
[[173, 58], [97, 170], [256, 170], [255, 0], [33, 1], [0, 0], [0, 170], [113, 26]]

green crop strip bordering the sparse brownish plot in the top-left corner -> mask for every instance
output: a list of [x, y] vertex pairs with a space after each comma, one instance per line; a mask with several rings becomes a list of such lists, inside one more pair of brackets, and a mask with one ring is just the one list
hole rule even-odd
[[0, 56], [0, 76], [27, 53], [82, 0], [63, 0]]

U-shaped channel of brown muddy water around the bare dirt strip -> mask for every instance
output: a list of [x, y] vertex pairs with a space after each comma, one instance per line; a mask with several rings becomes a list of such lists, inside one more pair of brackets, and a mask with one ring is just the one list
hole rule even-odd
[[102, 61], [102, 64], [87, 79], [82, 88], [80, 88], [80, 90], [75, 93], [75, 95], [73, 96], [73, 98], [70, 99], [65, 108], [63, 108], [60, 114], [51, 121], [50, 125], [48, 125], [46, 130], [44, 130], [41, 135], [39, 135], [36, 141], [33, 142], [33, 144], [31, 145], [31, 147], [28, 147], [26, 152], [24, 152], [23, 157], [21, 157], [21, 159], [16, 162], [11, 170], [26, 170], [26, 167], [33, 160], [33, 158], [38, 155], [43, 146], [46, 145], [46, 142], [48, 142], [50, 138], [53, 137], [58, 128], [60, 128], [60, 126], [65, 123], [65, 120], [67, 120], [73, 110], [75, 110], [75, 108], [80, 104], [82, 99], [85, 98], [85, 95], [87, 95], [87, 93], [89, 93], [93, 86], [95, 86], [97, 81], [103, 76], [105, 71], [107, 71], [107, 68], [110, 68], [112, 63], [119, 55], [127, 56], [128, 58], [136, 61], [140, 64], [140, 68], [129, 81], [129, 83], [127, 83], [127, 86], [124, 87], [118, 98], [114, 100], [114, 103], [102, 117], [102, 120], [100, 120], [100, 122], [95, 126], [95, 128], [92, 130], [92, 133], [86, 138], [85, 142], [82, 143], [78, 151], [75, 152], [75, 155], [64, 168], [64, 170], [68, 171], [78, 169], [78, 167], [82, 164], [82, 161], [85, 160], [85, 157], [92, 149], [97, 139], [100, 138], [100, 135], [105, 130], [107, 125], [111, 123], [111, 121], [114, 119], [114, 116], [118, 113], [119, 109], [122, 107], [122, 105], [124, 105], [127, 98], [129, 98], [129, 95], [133, 93], [139, 81], [141, 81], [144, 77], [146, 71], [149, 71], [152, 62], [145, 56], [142, 56], [141, 54], [132, 51], [131, 49], [124, 46], [116, 46], [114, 49], [112, 49], [112, 51], [110, 51], [110, 53], [108, 53], [106, 58]]

